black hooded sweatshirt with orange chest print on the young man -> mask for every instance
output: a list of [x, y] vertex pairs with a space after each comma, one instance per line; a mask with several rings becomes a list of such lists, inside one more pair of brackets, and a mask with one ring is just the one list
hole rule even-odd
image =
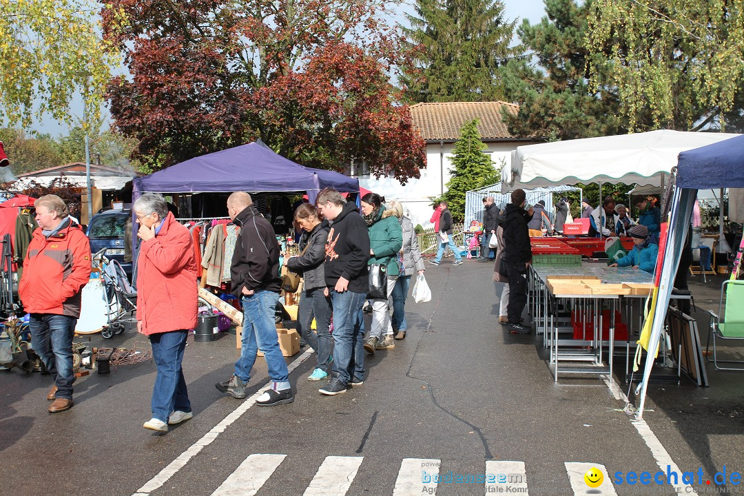
[[349, 291], [369, 291], [370, 236], [356, 204], [347, 202], [333, 219], [326, 242], [326, 286], [333, 289], [339, 277], [349, 281]]

